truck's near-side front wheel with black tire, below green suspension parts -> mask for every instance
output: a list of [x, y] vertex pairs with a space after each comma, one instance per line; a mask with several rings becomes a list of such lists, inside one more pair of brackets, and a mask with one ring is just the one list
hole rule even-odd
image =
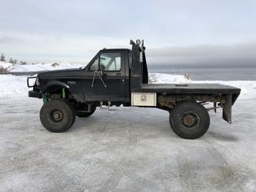
[[62, 133], [75, 122], [75, 111], [65, 101], [47, 101], [40, 110], [40, 120], [48, 131]]

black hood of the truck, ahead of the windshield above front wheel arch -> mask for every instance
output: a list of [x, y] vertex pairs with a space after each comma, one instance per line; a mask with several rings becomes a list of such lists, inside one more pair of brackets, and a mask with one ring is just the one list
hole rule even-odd
[[61, 78], [61, 77], [74, 77], [81, 76], [84, 69], [75, 68], [75, 69], [62, 69], [62, 70], [54, 70], [48, 71], [38, 74], [38, 78]]

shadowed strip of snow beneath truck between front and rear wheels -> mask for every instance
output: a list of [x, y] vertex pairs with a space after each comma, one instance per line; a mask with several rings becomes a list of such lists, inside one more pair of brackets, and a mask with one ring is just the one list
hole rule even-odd
[[[143, 114], [144, 111], [134, 111], [133, 114], [130, 114], [130, 110], [121, 111], [111, 111], [109, 112], [100, 111], [92, 115], [89, 118], [76, 118], [75, 124], [69, 131], [101, 131], [102, 127], [105, 127], [109, 130], [115, 131], [125, 131], [130, 130], [135, 133], [143, 134], [155, 134], [155, 137], [166, 136], [167, 137], [177, 137], [172, 131], [169, 124], [169, 121], [163, 115], [162, 117], [155, 118], [152, 120], [152, 117], [147, 117]], [[138, 114], [137, 114], [138, 113]], [[137, 116], [135, 118], [135, 116]]]

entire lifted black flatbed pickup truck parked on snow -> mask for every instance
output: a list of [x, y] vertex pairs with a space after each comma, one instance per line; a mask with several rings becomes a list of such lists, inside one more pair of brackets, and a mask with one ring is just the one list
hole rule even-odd
[[[87, 118], [97, 107], [121, 104], [169, 111], [172, 130], [185, 139], [201, 137], [208, 131], [211, 109], [222, 108], [223, 119], [231, 123], [231, 106], [240, 94], [239, 88], [223, 84], [148, 84], [144, 41], [130, 44], [131, 50], [98, 51], [85, 68], [49, 71], [28, 78], [28, 87], [33, 88], [28, 97], [44, 101], [42, 125], [48, 131], [64, 132], [76, 116]], [[209, 102], [212, 107], [204, 108]]]

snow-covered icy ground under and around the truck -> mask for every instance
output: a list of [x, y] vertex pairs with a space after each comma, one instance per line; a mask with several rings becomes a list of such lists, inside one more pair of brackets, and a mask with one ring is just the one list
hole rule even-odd
[[[152, 83], [201, 83], [150, 74]], [[216, 81], [203, 81], [216, 83]], [[42, 127], [42, 101], [28, 98], [26, 77], [0, 75], [1, 191], [255, 191], [256, 81], [241, 88], [233, 124], [210, 111], [204, 137], [177, 137], [155, 108], [97, 109], [71, 129]]]

